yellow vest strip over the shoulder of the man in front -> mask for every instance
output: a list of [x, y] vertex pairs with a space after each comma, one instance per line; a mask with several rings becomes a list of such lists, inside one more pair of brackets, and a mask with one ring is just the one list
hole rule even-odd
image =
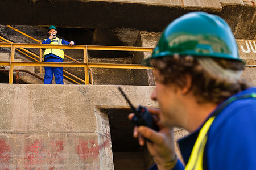
[[218, 114], [224, 109], [228, 104], [232, 103], [233, 101], [237, 99], [246, 99], [246, 98], [254, 98], [256, 99], [256, 93], [251, 93], [251, 94], [245, 94], [243, 96], [238, 96], [238, 97], [230, 97], [227, 101], [222, 103], [220, 107], [212, 114], [212, 117], [209, 118], [207, 122], [205, 122], [204, 126], [201, 128], [199, 135], [196, 139], [195, 145], [193, 146], [191, 155], [188, 160], [188, 164], [185, 166], [185, 170], [203, 170], [203, 159], [204, 159], [204, 148], [205, 144], [207, 143], [208, 139], [208, 133], [209, 133], [209, 128], [210, 125], [212, 125], [214, 119]]

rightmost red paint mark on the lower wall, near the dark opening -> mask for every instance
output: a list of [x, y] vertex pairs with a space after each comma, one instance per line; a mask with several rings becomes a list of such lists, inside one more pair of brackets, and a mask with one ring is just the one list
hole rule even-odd
[[80, 140], [79, 144], [75, 146], [75, 149], [76, 149], [76, 153], [82, 159], [99, 155], [99, 146], [93, 140], [90, 140], [90, 141]]

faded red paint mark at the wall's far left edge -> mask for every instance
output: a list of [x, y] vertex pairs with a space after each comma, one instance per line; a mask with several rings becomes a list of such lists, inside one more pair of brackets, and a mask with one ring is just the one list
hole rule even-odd
[[8, 169], [9, 162], [11, 158], [11, 147], [5, 142], [5, 140], [0, 139], [0, 163], [1, 169]]

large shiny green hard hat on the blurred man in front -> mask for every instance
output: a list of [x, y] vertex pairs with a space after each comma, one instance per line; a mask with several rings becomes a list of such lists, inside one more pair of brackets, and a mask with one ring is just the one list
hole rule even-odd
[[233, 33], [224, 19], [206, 12], [191, 12], [168, 25], [150, 60], [174, 54], [209, 56], [241, 61]]

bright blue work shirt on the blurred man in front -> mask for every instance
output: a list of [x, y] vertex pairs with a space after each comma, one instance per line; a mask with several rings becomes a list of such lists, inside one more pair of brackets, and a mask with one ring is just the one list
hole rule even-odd
[[[256, 93], [255, 87], [234, 96], [253, 92]], [[201, 127], [179, 140], [185, 164], [188, 163]], [[222, 109], [210, 126], [204, 159], [208, 170], [256, 169], [256, 99], [238, 99]], [[154, 164], [150, 169], [157, 167]], [[184, 169], [180, 161], [173, 168], [178, 169]]]

